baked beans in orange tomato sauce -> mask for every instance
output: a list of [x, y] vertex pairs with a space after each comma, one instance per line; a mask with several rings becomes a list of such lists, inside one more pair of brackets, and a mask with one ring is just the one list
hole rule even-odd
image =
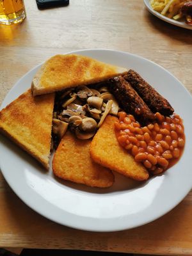
[[164, 172], [179, 161], [185, 136], [179, 115], [163, 116], [156, 113], [157, 122], [141, 127], [134, 116], [118, 113], [115, 122], [116, 138], [152, 174]]

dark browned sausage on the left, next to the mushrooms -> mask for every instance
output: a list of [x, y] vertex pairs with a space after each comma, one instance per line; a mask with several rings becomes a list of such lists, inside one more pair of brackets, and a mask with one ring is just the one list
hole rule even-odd
[[125, 112], [134, 115], [145, 124], [155, 119], [152, 111], [122, 76], [109, 79], [109, 88]]

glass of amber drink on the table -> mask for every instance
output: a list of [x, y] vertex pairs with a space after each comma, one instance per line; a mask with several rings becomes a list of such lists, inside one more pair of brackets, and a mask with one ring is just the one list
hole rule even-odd
[[25, 18], [23, 0], [0, 0], [0, 24], [18, 24]]

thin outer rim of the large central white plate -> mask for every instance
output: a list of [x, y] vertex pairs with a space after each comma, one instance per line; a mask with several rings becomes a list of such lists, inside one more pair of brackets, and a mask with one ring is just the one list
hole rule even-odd
[[[166, 70], [165, 68], [161, 67], [161, 65], [159, 65], [159, 64], [157, 64], [157, 63], [154, 63], [154, 61], [148, 60], [147, 58], [143, 58], [142, 56], [138, 56], [138, 55], [132, 54], [132, 53], [130, 53], [130, 52], [117, 51], [117, 50], [113, 50], [113, 49], [83, 49], [83, 50], [77, 50], [77, 51], [70, 51], [70, 52], [66, 52], [66, 53], [63, 53], [63, 54], [71, 54], [71, 53], [77, 53], [77, 54], [79, 53], [79, 54], [81, 54], [81, 52], [92, 52], [92, 51], [112, 51], [112, 52], [116, 52], [116, 53], [127, 54], [128, 56], [131, 55], [131, 56], [134, 56], [134, 57], [136, 57], [136, 58], [141, 58], [141, 59], [143, 59], [143, 60], [145, 60], [145, 61], [149, 61], [150, 63], [152, 63], [152, 64], [154, 64], [154, 65], [160, 67], [161, 69], [164, 70], [164, 72], [167, 72], [170, 76], [172, 76], [174, 79], [176, 79], [177, 82], [179, 82], [179, 84], [182, 86], [182, 88], [188, 93], [188, 95], [189, 95], [189, 96], [191, 97], [191, 99], [192, 99], [191, 94], [188, 92], [188, 90], [185, 88], [185, 86], [184, 86], [182, 83], [180, 83], [180, 81], [179, 81], [179, 79], [177, 79], [177, 77], [173, 76], [173, 74], [171, 74], [171, 73], [170, 73], [168, 70]], [[30, 74], [32, 70], [34, 70], [35, 68], [40, 67], [42, 64], [43, 64], [43, 63], [36, 65], [35, 67], [31, 68], [31, 70], [29, 70], [28, 72], [26, 72], [26, 74], [24, 74], [24, 76], [20, 77], [20, 79], [14, 84], [14, 86], [12, 87], [12, 89], [7, 93], [6, 97], [4, 98], [4, 100], [3, 100], [2, 104], [1, 104], [1, 108], [2, 108], [2, 107], [4, 108], [4, 105], [7, 104], [7, 103], [6, 103], [6, 100], [7, 100], [7, 98], [9, 97], [10, 93], [12, 93], [12, 90], [14, 90], [14, 88], [17, 86], [17, 84], [19, 84], [20, 81], [22, 81], [22, 79], [23, 79], [25, 76], [27, 76], [28, 74]], [[4, 178], [6, 179], [6, 178], [7, 178], [7, 177], [6, 177], [6, 173], [3, 172], [3, 169], [2, 169], [2, 167], [1, 167], [1, 161], [0, 161], [0, 168], [1, 168], [1, 172], [3, 173]], [[8, 184], [10, 184], [10, 182], [9, 182], [8, 179], [6, 179], [6, 181], [8, 182]], [[13, 186], [10, 186], [10, 187], [12, 188], [12, 190], [14, 191], [14, 193], [15, 193], [26, 205], [28, 205], [31, 209], [33, 209], [34, 211], [38, 212], [38, 214], [41, 214], [41, 215], [44, 216], [45, 218], [47, 218], [47, 219], [49, 219], [49, 220], [52, 220], [52, 221], [54, 221], [54, 222], [56, 222], [56, 223], [59, 223], [59, 224], [61, 224], [61, 225], [65, 225], [65, 226], [67, 226], [67, 227], [78, 228], [78, 229], [80, 229], [80, 230], [86, 230], [86, 231], [93, 231], [93, 232], [116, 232], [116, 231], [120, 231], [120, 230], [127, 230], [127, 229], [130, 229], [130, 228], [140, 227], [141, 225], [145, 225], [145, 224], [150, 223], [150, 222], [152, 222], [152, 221], [154, 221], [154, 220], [157, 220], [158, 218], [160, 218], [161, 216], [163, 216], [163, 215], [166, 214], [167, 212], [171, 211], [171, 210], [172, 210], [175, 206], [177, 206], [177, 205], [184, 199], [184, 197], [189, 193], [189, 191], [190, 191], [191, 188], [192, 188], [192, 182], [191, 182], [191, 187], [188, 188], [188, 189], [186, 189], [187, 192], [183, 193], [183, 195], [180, 196], [180, 199], [177, 200], [177, 202], [176, 202], [174, 205], [172, 205], [171, 208], [168, 207], [168, 209], [167, 209], [166, 211], [162, 212], [162, 214], [159, 214], [158, 216], [154, 216], [154, 218], [150, 218], [150, 220], [147, 220], [147, 221], [144, 221], [144, 222], [143, 222], [143, 221], [140, 221], [140, 222], [138, 223], [138, 225], [132, 225], [132, 226], [129, 225], [129, 227], [126, 227], [126, 226], [125, 226], [124, 228], [122, 228], [122, 227], [121, 227], [121, 228], [117, 228], [117, 227], [116, 227], [116, 228], [114, 228], [114, 227], [108, 227], [108, 228], [99, 228], [99, 229], [97, 229], [97, 227], [95, 227], [95, 228], [93, 228], [93, 227], [90, 227], [90, 228], [88, 228], [88, 227], [82, 227], [81, 224], [79, 225], [79, 227], [77, 227], [77, 225], [76, 225], [76, 227], [74, 227], [73, 225], [68, 225], [67, 223], [62, 223], [61, 221], [57, 221], [57, 220], [55, 220], [55, 218], [52, 218], [51, 216], [47, 216], [46, 214], [42, 213], [41, 211], [38, 211], [38, 209], [36, 209], [35, 207], [33, 207], [33, 205], [29, 204], [29, 203], [28, 203], [28, 200], [26, 200], [25, 198], [23, 198], [23, 196], [20, 195], [20, 193], [18, 193], [18, 191], [15, 191], [15, 189], [13, 188]], [[22, 194], [22, 193], [21, 193], [21, 194]]]

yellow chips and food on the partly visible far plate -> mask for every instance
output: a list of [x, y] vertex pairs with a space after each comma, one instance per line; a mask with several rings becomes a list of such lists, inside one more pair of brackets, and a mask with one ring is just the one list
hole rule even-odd
[[188, 25], [192, 25], [191, 0], [150, 0], [150, 5], [163, 16], [174, 20], [184, 18]]

